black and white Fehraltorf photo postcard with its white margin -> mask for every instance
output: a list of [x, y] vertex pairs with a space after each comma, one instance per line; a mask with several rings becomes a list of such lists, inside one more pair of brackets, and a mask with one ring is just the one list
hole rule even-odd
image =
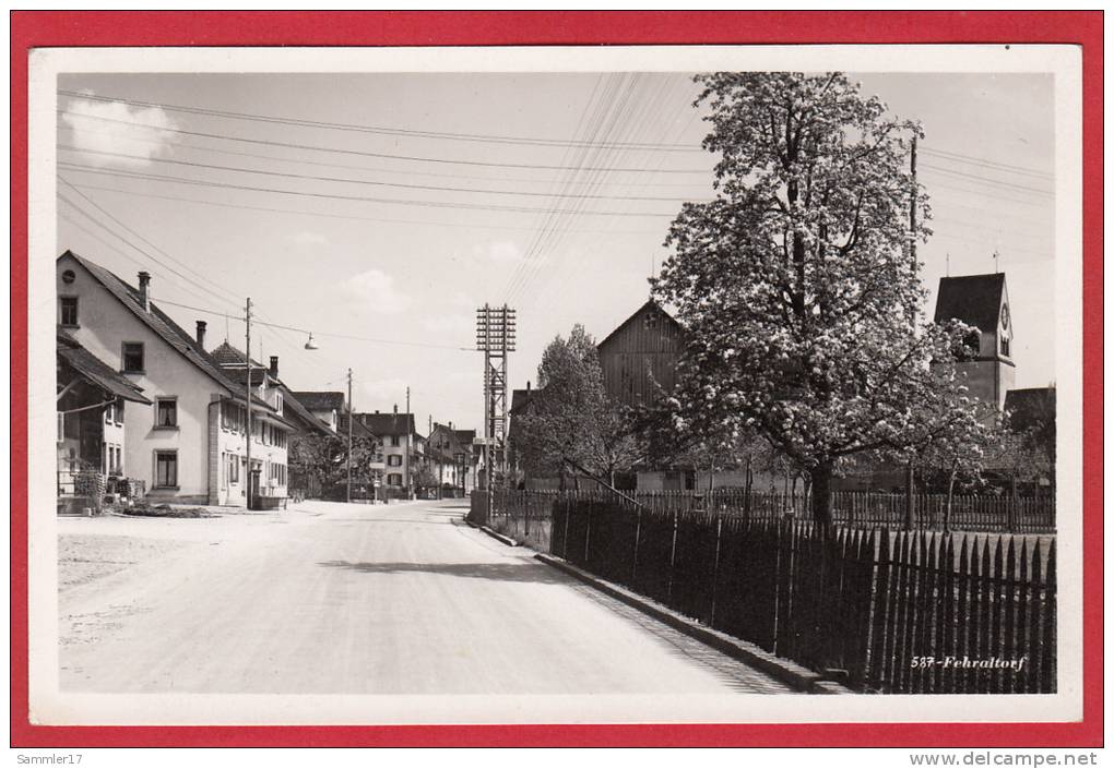
[[921, 49], [32, 60], [32, 720], [1077, 718], [1077, 59]]

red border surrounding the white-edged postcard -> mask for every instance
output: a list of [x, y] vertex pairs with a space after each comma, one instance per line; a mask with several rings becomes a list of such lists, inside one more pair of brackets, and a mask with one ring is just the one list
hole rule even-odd
[[[1096, 747], [1103, 726], [1102, 11], [11, 13], [13, 747]], [[1068, 43], [1083, 50], [1084, 717], [1073, 723], [43, 727], [28, 720], [28, 57], [39, 47]]]

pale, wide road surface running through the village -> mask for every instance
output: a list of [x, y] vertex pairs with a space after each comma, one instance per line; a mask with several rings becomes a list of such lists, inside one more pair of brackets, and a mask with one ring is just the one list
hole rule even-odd
[[463, 512], [459, 503], [306, 502], [208, 520], [67, 521], [61, 539], [70, 544], [114, 536], [163, 544], [140, 563], [123, 559], [118, 570], [62, 584], [61, 688], [786, 691], [530, 551], [468, 528]]

